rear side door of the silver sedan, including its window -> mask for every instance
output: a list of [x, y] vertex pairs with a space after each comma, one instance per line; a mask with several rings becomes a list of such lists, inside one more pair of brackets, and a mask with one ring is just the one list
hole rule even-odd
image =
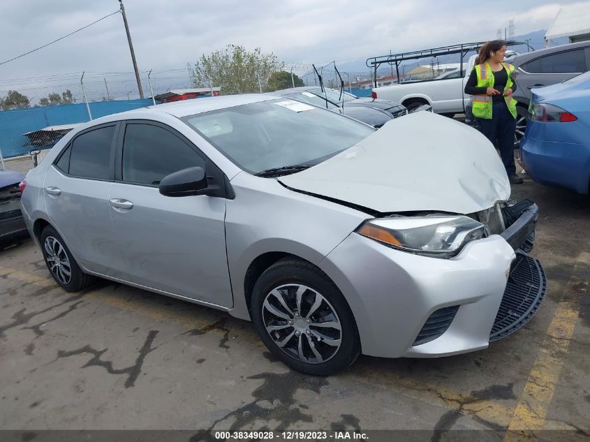
[[118, 128], [103, 124], [76, 135], [44, 182], [47, 214], [74, 258], [91, 272], [115, 278], [125, 270], [108, 205]]

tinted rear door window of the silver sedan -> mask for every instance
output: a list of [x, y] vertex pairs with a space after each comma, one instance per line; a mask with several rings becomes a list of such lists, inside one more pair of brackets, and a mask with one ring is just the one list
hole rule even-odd
[[115, 126], [106, 126], [78, 135], [72, 142], [70, 175], [112, 179], [110, 158], [113, 135], [115, 135]]

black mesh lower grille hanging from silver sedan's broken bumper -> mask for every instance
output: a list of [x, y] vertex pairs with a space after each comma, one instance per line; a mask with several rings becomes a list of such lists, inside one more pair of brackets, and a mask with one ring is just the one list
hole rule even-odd
[[489, 341], [506, 337], [528, 323], [537, 313], [545, 295], [547, 279], [538, 260], [517, 253]]

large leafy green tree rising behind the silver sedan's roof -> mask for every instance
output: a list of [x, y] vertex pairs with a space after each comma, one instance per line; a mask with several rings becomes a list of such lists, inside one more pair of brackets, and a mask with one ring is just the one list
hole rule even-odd
[[263, 54], [257, 47], [249, 52], [243, 46], [228, 45], [210, 55], [202, 54], [191, 75], [193, 87], [221, 87], [221, 94], [259, 92], [275, 71], [284, 64], [274, 54]]

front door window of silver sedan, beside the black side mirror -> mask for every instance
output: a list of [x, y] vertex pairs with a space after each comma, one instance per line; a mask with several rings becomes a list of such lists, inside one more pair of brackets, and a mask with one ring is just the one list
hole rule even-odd
[[198, 166], [205, 159], [161, 126], [128, 123], [123, 142], [123, 181], [157, 186], [166, 175]]

